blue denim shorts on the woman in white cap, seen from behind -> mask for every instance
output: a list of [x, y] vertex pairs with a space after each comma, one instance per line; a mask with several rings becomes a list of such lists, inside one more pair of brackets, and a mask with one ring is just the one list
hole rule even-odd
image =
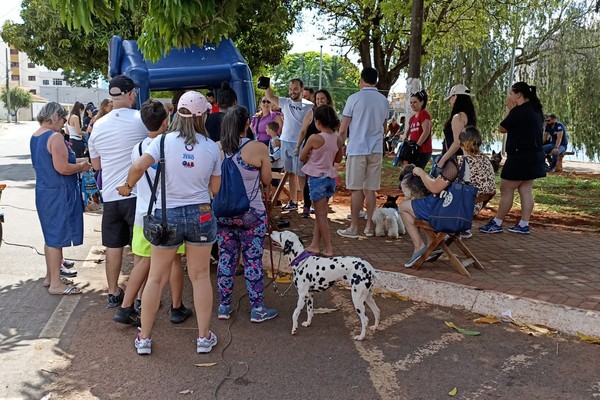
[[[154, 211], [160, 220], [161, 209]], [[217, 240], [217, 218], [210, 204], [194, 204], [167, 209], [167, 223], [174, 228], [169, 240], [158, 246], [160, 248], [176, 248], [183, 242], [187, 246], [212, 246]]]

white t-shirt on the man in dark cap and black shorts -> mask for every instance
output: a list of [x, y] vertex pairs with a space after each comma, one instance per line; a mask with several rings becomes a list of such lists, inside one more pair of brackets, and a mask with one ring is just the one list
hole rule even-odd
[[[131, 167], [131, 149], [148, 136], [140, 112], [129, 108], [112, 110], [94, 123], [88, 139], [90, 157], [100, 157], [102, 163], [102, 199], [120, 201], [117, 186], [127, 179]], [[135, 193], [132, 194], [135, 197]]]

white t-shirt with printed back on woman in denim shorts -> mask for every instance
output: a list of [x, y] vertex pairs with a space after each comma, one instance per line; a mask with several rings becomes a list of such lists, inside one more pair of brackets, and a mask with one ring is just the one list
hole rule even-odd
[[[160, 159], [160, 138], [154, 139], [146, 149], [146, 153], [157, 162]], [[198, 143], [195, 145], [186, 145], [179, 132], [166, 134], [167, 208], [210, 203], [210, 177], [221, 176], [221, 151], [215, 142], [199, 133], [196, 140]], [[156, 208], [161, 208], [160, 193]]]

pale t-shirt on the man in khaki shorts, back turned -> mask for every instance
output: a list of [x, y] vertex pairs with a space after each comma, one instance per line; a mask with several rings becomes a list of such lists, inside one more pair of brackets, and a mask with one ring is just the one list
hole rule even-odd
[[383, 123], [390, 103], [375, 87], [364, 87], [346, 101], [343, 115], [352, 118], [349, 127], [349, 156], [383, 153]]

